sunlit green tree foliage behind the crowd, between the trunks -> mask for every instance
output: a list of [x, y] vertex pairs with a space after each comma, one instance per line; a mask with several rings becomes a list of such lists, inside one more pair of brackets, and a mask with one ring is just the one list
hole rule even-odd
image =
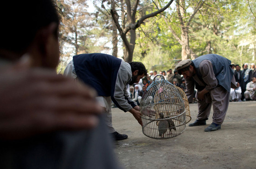
[[[114, 0], [104, 1], [104, 3], [110, 5], [112, 1]], [[58, 2], [63, 2], [59, 7], [66, 14], [64, 16], [68, 16], [64, 18], [72, 20], [75, 11], [72, 11], [73, 9], [69, 7], [70, 5], [67, 6], [64, 1]], [[82, 4], [86, 5], [85, 2], [81, 1]], [[116, 4], [120, 3], [120, 1], [115, 2]], [[185, 25], [189, 22], [199, 2], [200, 0], [183, 0], [183, 3], [180, 4], [185, 9], [183, 16]], [[154, 3], [149, 0], [139, 1], [136, 18], [158, 10], [155, 4], [161, 7], [161, 4], [166, 4], [166, 2], [161, 0], [154, 1]], [[204, 1], [202, 8], [194, 15], [189, 25], [190, 49], [198, 56], [207, 53], [220, 54], [230, 59], [234, 64], [243, 65], [245, 62], [255, 62], [255, 4], [254, 0]], [[97, 10], [99, 13], [88, 14], [88, 16], [83, 17], [80, 22], [74, 25], [66, 25], [63, 21], [63, 27], [66, 27], [66, 31], [60, 31], [63, 37], [62, 41], [64, 41], [62, 45], [65, 43], [74, 45], [74, 39], [72, 39], [74, 33], [72, 31], [76, 28], [79, 33], [78, 52], [93, 53], [111, 50], [112, 30], [109, 11], [104, 11], [100, 7]], [[72, 13], [73, 15], [71, 15]], [[171, 32], [170, 26], [180, 38], [182, 29], [175, 1], [162, 14], [146, 19], [136, 29], [133, 61], [143, 62], [149, 70], [152, 67], [157, 68], [157, 71], [173, 68], [174, 63], [172, 60], [181, 58], [182, 45]], [[130, 40], [129, 36], [127, 37]], [[120, 36], [118, 36], [118, 39], [120, 40]], [[120, 44], [120, 46], [122, 45]], [[74, 46], [69, 49], [74, 53], [73, 48], [75, 49]], [[63, 53], [65, 51], [62, 50]], [[72, 52], [66, 52], [66, 55], [72, 56]], [[158, 66], [154, 67], [154, 65]]]

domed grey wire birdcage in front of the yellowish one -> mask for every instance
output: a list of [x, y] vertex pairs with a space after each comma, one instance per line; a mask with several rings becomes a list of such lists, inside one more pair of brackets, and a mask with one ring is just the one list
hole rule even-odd
[[[163, 78], [156, 80], [156, 78]], [[182, 134], [186, 129], [186, 108], [179, 90], [156, 75], [144, 92], [140, 111], [142, 133], [150, 138], [166, 139]]]

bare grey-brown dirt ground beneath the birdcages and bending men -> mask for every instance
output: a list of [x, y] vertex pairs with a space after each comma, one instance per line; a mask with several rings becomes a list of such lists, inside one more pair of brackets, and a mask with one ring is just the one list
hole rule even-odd
[[[194, 122], [197, 104], [190, 104]], [[124, 168], [256, 168], [256, 101], [230, 102], [221, 130], [205, 132], [206, 126], [189, 127], [169, 139], [153, 139], [131, 113], [112, 108], [113, 125], [128, 139], [115, 142]]]

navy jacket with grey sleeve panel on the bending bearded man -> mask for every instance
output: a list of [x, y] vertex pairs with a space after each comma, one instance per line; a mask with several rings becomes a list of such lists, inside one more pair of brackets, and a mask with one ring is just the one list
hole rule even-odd
[[98, 96], [111, 96], [125, 112], [136, 106], [125, 87], [132, 78], [129, 63], [108, 54], [90, 53], [73, 56], [73, 64], [77, 77], [96, 89]]

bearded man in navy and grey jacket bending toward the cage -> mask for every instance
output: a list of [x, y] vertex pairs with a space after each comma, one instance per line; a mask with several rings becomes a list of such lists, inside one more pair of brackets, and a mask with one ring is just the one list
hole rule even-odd
[[73, 56], [73, 60], [64, 71], [64, 76], [71, 76], [97, 90], [97, 100], [107, 113], [106, 121], [109, 132], [115, 140], [122, 140], [128, 136], [117, 133], [112, 126], [111, 100], [124, 112], [132, 113], [142, 125], [139, 106], [129, 98], [126, 85], [138, 83], [147, 72], [140, 62], [126, 63], [108, 54], [91, 53]]

